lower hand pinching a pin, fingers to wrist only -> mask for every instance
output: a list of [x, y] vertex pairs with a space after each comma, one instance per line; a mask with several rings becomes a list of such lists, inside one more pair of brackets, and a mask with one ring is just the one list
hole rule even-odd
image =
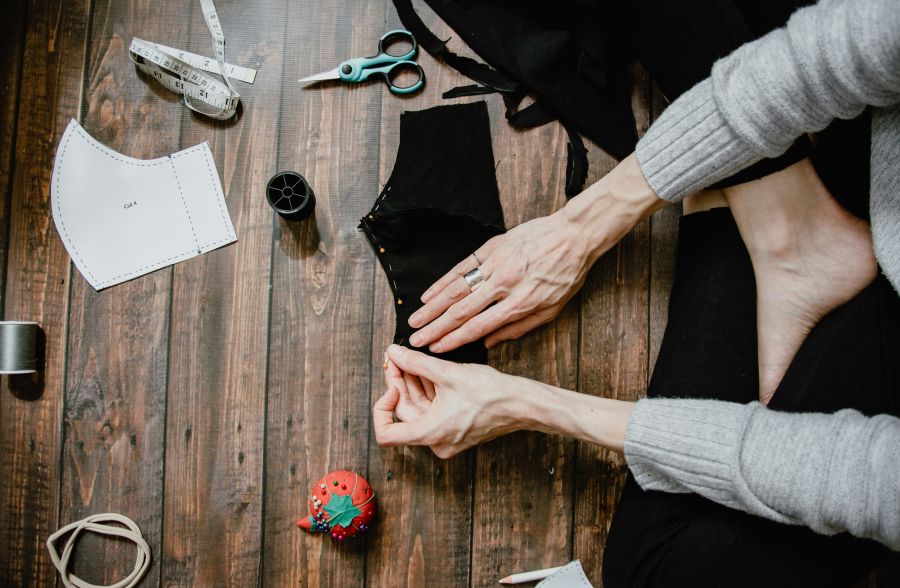
[[[379, 445], [425, 445], [442, 459], [527, 428], [517, 402], [541, 384], [398, 345], [388, 348], [387, 391], [373, 409]], [[396, 422], [394, 416], [398, 419]]]

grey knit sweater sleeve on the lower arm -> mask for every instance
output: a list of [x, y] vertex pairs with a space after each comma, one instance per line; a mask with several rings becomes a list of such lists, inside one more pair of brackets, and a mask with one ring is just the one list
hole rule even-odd
[[900, 551], [900, 419], [893, 416], [644, 399], [628, 425], [625, 458], [645, 490], [695, 492]]

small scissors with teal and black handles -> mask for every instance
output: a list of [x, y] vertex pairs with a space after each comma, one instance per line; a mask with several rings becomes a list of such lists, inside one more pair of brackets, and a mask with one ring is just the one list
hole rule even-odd
[[[391, 45], [398, 41], [412, 43], [412, 48], [403, 55], [389, 53]], [[413, 61], [418, 45], [413, 34], [405, 29], [388, 31], [378, 41], [378, 54], [372, 57], [357, 57], [348, 59], [336, 68], [309, 76], [301, 82], [320, 82], [323, 80], [341, 80], [348, 84], [356, 84], [368, 80], [373, 75], [384, 78], [388, 88], [394, 94], [413, 94], [425, 85], [425, 72], [418, 63]], [[414, 72], [418, 75], [416, 82], [409, 86], [397, 86], [394, 80], [402, 71]]]

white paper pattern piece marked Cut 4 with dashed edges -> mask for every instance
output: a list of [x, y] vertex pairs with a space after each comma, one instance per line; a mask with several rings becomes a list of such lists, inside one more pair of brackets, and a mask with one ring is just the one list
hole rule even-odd
[[134, 159], [72, 120], [56, 150], [50, 194], [56, 230], [96, 290], [237, 240], [207, 143]]

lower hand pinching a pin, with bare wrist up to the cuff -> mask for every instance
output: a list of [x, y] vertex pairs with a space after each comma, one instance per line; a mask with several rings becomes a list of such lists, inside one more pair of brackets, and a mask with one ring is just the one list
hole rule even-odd
[[372, 416], [378, 444], [425, 445], [443, 459], [519, 430], [562, 433], [622, 451], [634, 408], [633, 402], [563, 390], [398, 345], [388, 348], [385, 379], [387, 391]]

